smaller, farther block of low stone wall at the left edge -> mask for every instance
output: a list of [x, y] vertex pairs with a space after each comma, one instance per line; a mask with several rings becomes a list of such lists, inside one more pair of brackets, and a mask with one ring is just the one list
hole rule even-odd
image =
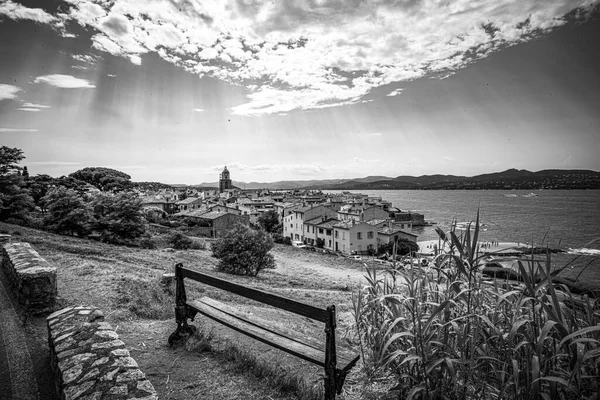
[[56, 268], [29, 243], [2, 246], [2, 268], [8, 275], [19, 302], [33, 312], [50, 311], [56, 304]]

